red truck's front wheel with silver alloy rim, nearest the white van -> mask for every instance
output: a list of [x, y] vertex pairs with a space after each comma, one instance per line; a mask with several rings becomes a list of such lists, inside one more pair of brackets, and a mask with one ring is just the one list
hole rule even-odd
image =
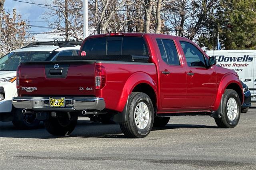
[[234, 128], [239, 122], [241, 113], [241, 101], [236, 91], [226, 89], [222, 103], [219, 109], [222, 109], [222, 117], [215, 118], [215, 122], [220, 128]]

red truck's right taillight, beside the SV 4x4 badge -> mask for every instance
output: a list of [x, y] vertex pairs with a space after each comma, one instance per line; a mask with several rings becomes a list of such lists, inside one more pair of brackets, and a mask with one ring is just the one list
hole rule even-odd
[[106, 69], [102, 65], [95, 68], [95, 89], [102, 89], [106, 85]]

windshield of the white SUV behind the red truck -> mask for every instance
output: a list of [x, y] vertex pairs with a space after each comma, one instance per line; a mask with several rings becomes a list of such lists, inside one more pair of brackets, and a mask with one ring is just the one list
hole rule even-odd
[[28, 61], [45, 61], [50, 51], [12, 52], [0, 58], [0, 71], [16, 71], [18, 65]]

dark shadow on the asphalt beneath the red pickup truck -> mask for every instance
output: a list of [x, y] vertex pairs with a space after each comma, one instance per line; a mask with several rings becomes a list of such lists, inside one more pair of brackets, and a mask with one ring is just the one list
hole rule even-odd
[[[190, 124], [168, 124], [165, 127], [154, 127], [152, 131], [168, 130], [176, 128], [218, 128], [217, 126], [206, 125], [190, 125]], [[118, 124], [103, 125], [101, 123], [93, 123], [86, 120], [78, 120], [75, 130], [67, 136], [53, 136], [49, 134], [43, 123], [38, 129], [32, 130], [18, 130], [12, 123], [0, 123], [0, 137], [1, 138], [126, 138], [122, 133]]]

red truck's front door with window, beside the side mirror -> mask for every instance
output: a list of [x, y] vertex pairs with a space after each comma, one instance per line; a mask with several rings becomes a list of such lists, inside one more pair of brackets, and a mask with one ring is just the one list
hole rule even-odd
[[212, 106], [217, 88], [214, 67], [206, 68], [204, 54], [192, 43], [180, 41], [187, 63], [187, 95], [186, 108], [198, 110]]

